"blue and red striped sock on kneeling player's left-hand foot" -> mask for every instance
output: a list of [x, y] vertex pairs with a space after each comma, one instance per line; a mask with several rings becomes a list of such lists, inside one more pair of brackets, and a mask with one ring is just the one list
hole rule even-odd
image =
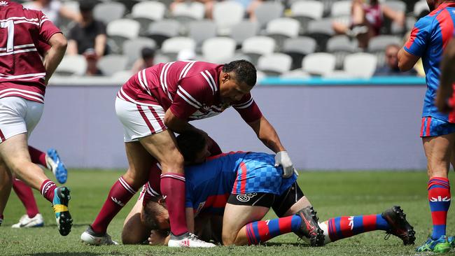
[[245, 229], [248, 244], [258, 244], [281, 234], [297, 232], [301, 223], [302, 218], [297, 215], [248, 223]]

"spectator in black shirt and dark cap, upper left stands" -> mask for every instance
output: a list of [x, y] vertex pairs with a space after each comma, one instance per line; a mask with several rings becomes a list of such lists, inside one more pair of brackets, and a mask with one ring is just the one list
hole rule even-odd
[[97, 66], [99, 57], [106, 53], [106, 25], [94, 20], [94, 1], [83, 0], [79, 3], [82, 19], [69, 30], [68, 48], [69, 55], [84, 55], [87, 59], [87, 74], [94, 75], [99, 72]]

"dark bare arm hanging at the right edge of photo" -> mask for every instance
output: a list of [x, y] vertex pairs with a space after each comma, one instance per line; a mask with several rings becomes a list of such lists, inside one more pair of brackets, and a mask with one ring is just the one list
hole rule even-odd
[[437, 90], [436, 106], [439, 111], [447, 113], [450, 111], [449, 98], [454, 90], [452, 85], [455, 83], [455, 41], [451, 40], [444, 51], [441, 62], [441, 80]]

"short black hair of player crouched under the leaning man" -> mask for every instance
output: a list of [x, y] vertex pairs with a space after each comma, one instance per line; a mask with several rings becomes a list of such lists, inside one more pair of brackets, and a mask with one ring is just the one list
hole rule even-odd
[[204, 149], [207, 141], [205, 136], [197, 131], [185, 131], [177, 136], [177, 146], [185, 162], [195, 162], [197, 153]]

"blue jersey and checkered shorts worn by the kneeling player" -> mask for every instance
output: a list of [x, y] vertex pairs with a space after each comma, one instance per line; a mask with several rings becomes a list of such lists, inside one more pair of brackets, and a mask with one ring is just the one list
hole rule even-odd
[[267, 153], [229, 152], [209, 157], [204, 164], [185, 167], [185, 206], [193, 208], [195, 215], [222, 215], [233, 190], [282, 194], [297, 180], [297, 176], [283, 179], [282, 174], [281, 167], [274, 167], [274, 155]]

